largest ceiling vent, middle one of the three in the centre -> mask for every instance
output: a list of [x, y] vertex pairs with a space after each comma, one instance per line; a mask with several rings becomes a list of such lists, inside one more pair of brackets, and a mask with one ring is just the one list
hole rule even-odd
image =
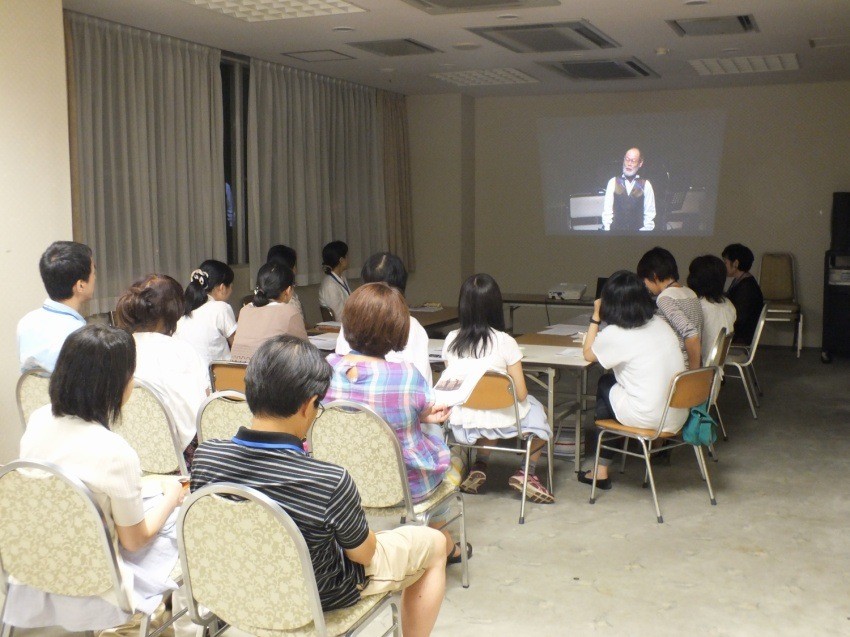
[[469, 31], [516, 53], [588, 51], [620, 46], [587, 20], [484, 27]]

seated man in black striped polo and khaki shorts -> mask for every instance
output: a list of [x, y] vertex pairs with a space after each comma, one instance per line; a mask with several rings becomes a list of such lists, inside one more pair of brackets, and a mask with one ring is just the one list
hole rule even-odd
[[277, 502], [307, 543], [326, 611], [364, 596], [403, 590], [405, 635], [428, 635], [445, 593], [446, 541], [428, 527], [374, 533], [348, 472], [302, 447], [321, 413], [331, 367], [313, 345], [283, 335], [266, 341], [248, 364], [245, 394], [253, 414], [231, 440], [202, 443], [192, 490], [214, 482], [253, 487]]

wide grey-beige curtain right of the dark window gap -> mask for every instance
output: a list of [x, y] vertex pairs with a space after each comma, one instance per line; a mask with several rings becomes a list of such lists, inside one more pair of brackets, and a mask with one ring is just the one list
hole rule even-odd
[[323, 273], [322, 246], [349, 245], [350, 273], [387, 247], [377, 91], [251, 61], [248, 237], [252, 274], [269, 247], [298, 252], [299, 285]]

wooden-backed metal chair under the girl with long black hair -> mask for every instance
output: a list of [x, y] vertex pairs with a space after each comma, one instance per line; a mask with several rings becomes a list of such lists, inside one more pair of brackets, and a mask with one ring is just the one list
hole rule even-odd
[[[524, 477], [522, 481], [522, 499], [520, 500], [519, 505], [519, 523], [525, 524], [525, 500], [526, 500], [526, 492], [528, 490], [528, 467], [531, 462], [531, 448], [533, 446], [534, 440], [537, 439], [537, 436], [534, 434], [528, 434], [527, 436], [523, 435], [522, 428], [520, 426], [520, 416], [519, 416], [519, 403], [516, 399], [516, 389], [514, 388], [514, 380], [510, 377], [509, 374], [505, 372], [497, 372], [497, 371], [488, 371], [484, 376], [481, 377], [481, 380], [478, 381], [478, 384], [475, 386], [475, 389], [472, 390], [472, 394], [470, 394], [469, 398], [462, 405], [463, 407], [467, 407], [469, 409], [480, 409], [480, 410], [489, 410], [489, 409], [512, 409], [514, 413], [514, 423], [516, 425], [516, 447], [500, 447], [494, 445], [486, 445], [486, 444], [464, 444], [462, 442], [458, 442], [454, 436], [451, 434], [451, 429], [448, 429], [448, 439], [447, 442], [450, 447], [462, 447], [464, 449], [489, 449], [490, 451], [498, 451], [502, 453], [511, 453], [515, 455], [525, 456], [525, 461], [523, 464]], [[546, 464], [548, 465], [548, 482], [549, 482], [549, 491], [554, 494], [555, 493], [555, 476], [554, 476], [554, 454], [553, 454], [553, 439], [554, 432], [549, 437], [549, 440], [546, 441]], [[525, 441], [525, 446], [523, 447], [523, 441]]]

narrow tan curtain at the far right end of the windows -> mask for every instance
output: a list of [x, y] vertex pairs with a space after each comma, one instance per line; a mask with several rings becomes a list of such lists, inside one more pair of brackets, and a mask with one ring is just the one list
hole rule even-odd
[[410, 142], [407, 134], [407, 101], [404, 95], [378, 91], [381, 145], [384, 161], [384, 193], [387, 245], [409, 271], [413, 256], [413, 212], [410, 198]]

